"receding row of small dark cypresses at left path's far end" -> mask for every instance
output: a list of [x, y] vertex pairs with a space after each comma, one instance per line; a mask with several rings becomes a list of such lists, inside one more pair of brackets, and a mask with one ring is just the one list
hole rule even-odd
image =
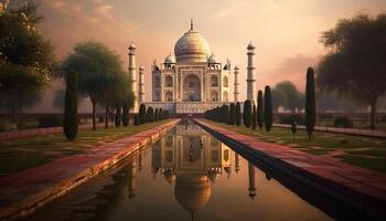
[[144, 104], [139, 106], [139, 113], [135, 116], [135, 125], [141, 125], [146, 123], [159, 122], [169, 118], [169, 110], [162, 108], [153, 108], [152, 106], [146, 108]]

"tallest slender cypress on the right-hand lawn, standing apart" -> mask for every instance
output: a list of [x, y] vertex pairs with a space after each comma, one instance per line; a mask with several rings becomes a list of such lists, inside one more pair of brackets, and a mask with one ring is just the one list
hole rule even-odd
[[315, 82], [313, 69], [307, 70], [305, 83], [305, 129], [309, 139], [312, 138], [312, 133], [317, 123], [317, 104], [315, 104]]

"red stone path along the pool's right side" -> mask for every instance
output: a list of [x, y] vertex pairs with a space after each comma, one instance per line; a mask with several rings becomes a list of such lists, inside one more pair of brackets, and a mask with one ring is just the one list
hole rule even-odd
[[[239, 144], [240, 148], [248, 148], [259, 152], [264, 156], [262, 158], [269, 158], [268, 161], [271, 164], [280, 162], [294, 169], [296, 173], [304, 175], [309, 179], [307, 181], [322, 180], [323, 183], [333, 186], [335, 191], [350, 194], [350, 199], [365, 199], [364, 203], [376, 202], [375, 206], [368, 206], [378, 207], [380, 211], [376, 212], [380, 212], [382, 217], [386, 215], [386, 176], [383, 173], [345, 164], [331, 156], [314, 156], [280, 144], [262, 141], [256, 137], [224, 129], [205, 119], [195, 120], [212, 133]], [[332, 192], [332, 194], [336, 193]], [[364, 208], [364, 210], [367, 209]]]

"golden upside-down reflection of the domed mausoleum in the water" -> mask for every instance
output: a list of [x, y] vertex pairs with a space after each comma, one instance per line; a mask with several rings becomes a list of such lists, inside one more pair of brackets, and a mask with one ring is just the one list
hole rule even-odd
[[175, 185], [178, 202], [193, 214], [211, 199], [210, 180], [230, 175], [232, 151], [196, 125], [179, 125], [174, 133], [153, 146], [152, 171]]

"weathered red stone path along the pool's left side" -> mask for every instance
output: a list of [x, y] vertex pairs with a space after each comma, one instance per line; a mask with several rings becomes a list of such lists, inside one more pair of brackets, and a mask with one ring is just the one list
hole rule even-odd
[[56, 159], [0, 179], [0, 220], [33, 212], [69, 189], [110, 168], [173, 128], [173, 119], [151, 129]]

